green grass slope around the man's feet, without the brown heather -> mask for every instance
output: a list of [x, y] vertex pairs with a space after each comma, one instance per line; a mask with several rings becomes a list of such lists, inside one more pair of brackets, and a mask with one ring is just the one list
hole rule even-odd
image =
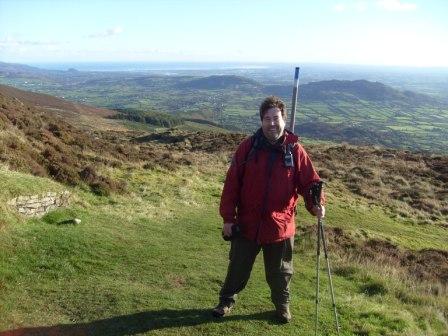
[[[15, 217], [9, 215], [0, 229], [0, 330], [312, 334], [315, 251], [313, 241], [303, 238], [296, 246], [291, 324], [280, 326], [271, 320], [262, 258], [235, 312], [219, 321], [210, 317], [229, 248], [220, 239], [217, 214], [224, 170], [223, 162], [174, 172], [111, 170], [129, 182], [129, 194], [94, 197], [75, 189], [69, 208], [42, 219], [12, 220]], [[62, 188], [50, 180], [5, 170], [0, 183], [34, 185], [34, 192]], [[10, 196], [4, 188], [0, 194], [2, 199]], [[329, 200], [328, 225], [353, 234], [363, 229], [402, 247], [446, 250], [446, 230], [393, 220], [381, 208], [340, 195], [336, 186], [329, 186]], [[304, 214], [303, 208], [300, 213]], [[81, 224], [58, 225], [73, 217], [82, 219]], [[299, 218], [300, 226], [315, 222], [308, 215]], [[337, 256], [332, 261], [343, 335], [446, 335], [446, 297], [425, 294], [419, 285], [391, 277], [375, 265], [365, 268]], [[366, 284], [383, 294], [366, 292]], [[324, 272], [321, 288], [321, 328], [330, 334], [334, 329]]]

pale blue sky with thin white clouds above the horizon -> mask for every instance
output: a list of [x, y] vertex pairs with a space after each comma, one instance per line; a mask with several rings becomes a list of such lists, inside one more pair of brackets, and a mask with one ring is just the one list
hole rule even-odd
[[446, 0], [0, 0], [0, 61], [448, 67]]

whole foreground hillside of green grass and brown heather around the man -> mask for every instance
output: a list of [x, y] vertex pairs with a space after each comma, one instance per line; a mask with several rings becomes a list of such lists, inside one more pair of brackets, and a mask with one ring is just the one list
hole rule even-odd
[[[292, 323], [273, 319], [261, 256], [235, 311], [222, 320], [210, 315], [229, 252], [218, 215], [222, 182], [244, 135], [90, 134], [2, 99], [1, 336], [314, 332], [316, 220], [302, 204]], [[328, 181], [325, 223], [342, 335], [447, 335], [448, 157], [306, 148]], [[66, 166], [73, 179], [51, 170]], [[40, 219], [5, 204], [61, 190], [72, 193], [70, 206]], [[68, 224], [74, 218], [81, 223]], [[332, 334], [324, 272], [320, 327]]]

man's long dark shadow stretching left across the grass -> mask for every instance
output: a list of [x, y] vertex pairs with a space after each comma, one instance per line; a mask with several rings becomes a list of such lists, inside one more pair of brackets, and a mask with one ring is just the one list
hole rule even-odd
[[273, 312], [250, 315], [231, 315], [214, 318], [209, 309], [147, 311], [115, 316], [104, 320], [78, 324], [60, 324], [50, 327], [30, 327], [0, 332], [0, 336], [122, 336], [135, 335], [150, 330], [196, 326], [207, 323], [225, 323], [239, 320], [264, 320], [277, 324]]

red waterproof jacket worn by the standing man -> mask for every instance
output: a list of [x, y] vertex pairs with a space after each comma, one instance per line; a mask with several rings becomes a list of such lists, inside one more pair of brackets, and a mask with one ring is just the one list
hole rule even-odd
[[[294, 235], [298, 195], [304, 197], [311, 211], [309, 189], [320, 180], [298, 137], [285, 133], [277, 150], [261, 147], [254, 151], [255, 136], [245, 139], [235, 152], [221, 195], [224, 223], [239, 224], [242, 235], [259, 244]], [[285, 165], [284, 151], [288, 147], [294, 167]]]

